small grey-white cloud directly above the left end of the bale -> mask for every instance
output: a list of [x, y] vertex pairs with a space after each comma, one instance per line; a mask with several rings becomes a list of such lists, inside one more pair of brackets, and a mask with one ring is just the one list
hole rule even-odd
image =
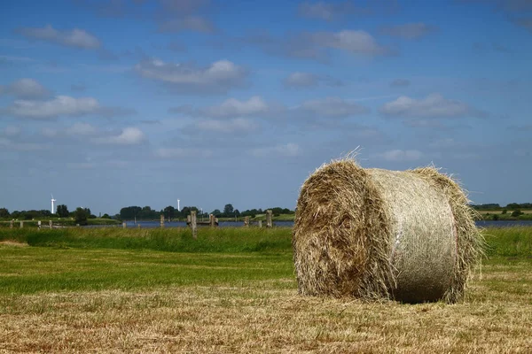
[[346, 118], [369, 112], [369, 109], [362, 105], [351, 103], [338, 97], [305, 101], [296, 110], [310, 113], [318, 118]]

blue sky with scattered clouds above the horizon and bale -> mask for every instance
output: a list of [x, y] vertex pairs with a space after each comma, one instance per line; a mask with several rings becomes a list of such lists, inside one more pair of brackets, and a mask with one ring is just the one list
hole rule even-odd
[[319, 165], [532, 200], [532, 2], [5, 1], [0, 207], [295, 206]]

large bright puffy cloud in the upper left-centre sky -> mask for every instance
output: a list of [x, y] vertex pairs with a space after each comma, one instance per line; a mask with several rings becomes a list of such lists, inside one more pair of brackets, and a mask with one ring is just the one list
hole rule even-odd
[[147, 79], [166, 82], [184, 91], [227, 91], [240, 86], [247, 75], [242, 67], [229, 60], [216, 61], [207, 67], [197, 67], [151, 59], [135, 65], [135, 71]]

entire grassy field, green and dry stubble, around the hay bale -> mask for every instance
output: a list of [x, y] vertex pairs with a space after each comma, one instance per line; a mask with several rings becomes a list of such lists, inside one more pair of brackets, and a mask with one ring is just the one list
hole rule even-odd
[[532, 351], [532, 227], [462, 304], [297, 294], [291, 230], [0, 230], [1, 352]]

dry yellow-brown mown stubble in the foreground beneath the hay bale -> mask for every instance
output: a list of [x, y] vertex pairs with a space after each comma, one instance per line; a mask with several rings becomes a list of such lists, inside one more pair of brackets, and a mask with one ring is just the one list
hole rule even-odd
[[454, 305], [298, 296], [292, 278], [4, 295], [0, 352], [525, 353], [532, 350], [529, 266], [484, 266], [483, 280]]

